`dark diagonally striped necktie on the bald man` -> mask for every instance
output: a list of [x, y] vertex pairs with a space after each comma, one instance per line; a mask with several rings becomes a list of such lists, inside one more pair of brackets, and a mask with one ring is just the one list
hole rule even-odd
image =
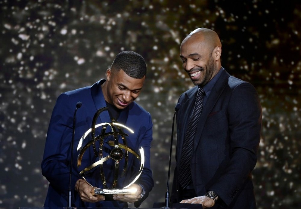
[[183, 189], [186, 188], [186, 186], [188, 186], [191, 182], [191, 153], [194, 144], [195, 132], [197, 131], [197, 123], [199, 121], [200, 114], [202, 113], [203, 109], [204, 94], [205, 91], [202, 88], [198, 88], [193, 115], [188, 121], [188, 126], [185, 133], [185, 140], [182, 148], [180, 168], [178, 173], [178, 181]]

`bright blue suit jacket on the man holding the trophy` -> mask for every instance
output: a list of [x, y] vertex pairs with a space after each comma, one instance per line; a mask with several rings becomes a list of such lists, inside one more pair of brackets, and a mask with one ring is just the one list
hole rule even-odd
[[[78, 101], [82, 102], [82, 106], [77, 110], [76, 114], [76, 126], [75, 126], [75, 141], [73, 148], [73, 162], [72, 162], [72, 180], [71, 191], [73, 195], [73, 204], [77, 207], [127, 207], [127, 203], [119, 201], [100, 201], [98, 203], [82, 202], [77, 192], [74, 190], [75, 183], [80, 179], [79, 172], [85, 167], [95, 162], [94, 152], [90, 147], [82, 158], [82, 165], [77, 168], [77, 156], [78, 152], [76, 148], [78, 146], [79, 139], [82, 135], [91, 128], [92, 120], [95, 112], [101, 108], [107, 106], [104, 100], [103, 93], [101, 91], [101, 84], [105, 80], [100, 80], [91, 87], [84, 87], [73, 91], [65, 92], [57, 98], [57, 102], [54, 106], [49, 128], [47, 132], [47, 138], [45, 143], [45, 151], [42, 160], [42, 174], [49, 181], [49, 188], [44, 207], [65, 207], [68, 206], [68, 194], [69, 194], [69, 171], [70, 171], [70, 148], [73, 129], [73, 115]], [[110, 116], [107, 111], [102, 112], [97, 123], [110, 122]], [[140, 183], [146, 190], [146, 195], [141, 201], [135, 203], [135, 206], [141, 204], [141, 202], [147, 197], [148, 192], [151, 191], [154, 186], [152, 179], [152, 171], [150, 168], [150, 147], [152, 141], [152, 121], [151, 116], [137, 103], [131, 103], [126, 109], [124, 109], [118, 118], [118, 122], [126, 125], [134, 131], [134, 134], [124, 130], [129, 134], [127, 137], [128, 146], [133, 148], [139, 153], [138, 149], [143, 147], [145, 155], [145, 164], [141, 176], [136, 183]], [[97, 136], [99, 133], [96, 133]], [[87, 137], [84, 140], [85, 144], [91, 138]], [[106, 139], [107, 141], [109, 139]], [[112, 140], [112, 138], [110, 139]], [[99, 141], [97, 141], [99, 142]], [[122, 140], [119, 140], [122, 143]], [[99, 143], [96, 143], [97, 150]], [[108, 155], [110, 148], [106, 144], [104, 146], [104, 156]], [[112, 149], [112, 147], [111, 147]], [[111, 164], [108, 164], [111, 162]], [[140, 161], [138, 161], [133, 155], [129, 154], [129, 170], [126, 175], [118, 180], [118, 187], [128, 185], [132, 177], [135, 177], [136, 171], [140, 168]], [[107, 184], [110, 187], [112, 184], [113, 166], [114, 161], [110, 159], [104, 163], [104, 166], [111, 166], [111, 169], [105, 170], [105, 176], [107, 178]], [[123, 168], [124, 159], [120, 162], [120, 170]], [[98, 168], [99, 169], [99, 168]], [[102, 188], [102, 181], [100, 180], [99, 171], [92, 174], [91, 183], [93, 186]], [[108, 179], [111, 180], [108, 180]]]

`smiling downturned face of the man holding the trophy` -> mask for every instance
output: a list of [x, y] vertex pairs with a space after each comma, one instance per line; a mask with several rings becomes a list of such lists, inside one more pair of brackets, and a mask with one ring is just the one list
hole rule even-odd
[[107, 81], [103, 84], [104, 99], [118, 109], [126, 108], [140, 94], [145, 76], [137, 79], [127, 75], [122, 69], [107, 69]]

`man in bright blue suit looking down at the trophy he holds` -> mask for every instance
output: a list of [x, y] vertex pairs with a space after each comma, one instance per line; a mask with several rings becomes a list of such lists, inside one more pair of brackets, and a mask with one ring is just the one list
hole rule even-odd
[[[141, 92], [145, 75], [146, 64], [143, 57], [133, 51], [123, 51], [117, 54], [111, 67], [107, 69], [106, 80], [100, 80], [91, 87], [65, 92], [57, 98], [49, 123], [42, 161], [42, 174], [49, 181], [44, 207], [68, 206], [70, 163], [72, 163], [71, 191], [73, 206], [128, 207], [127, 202], [132, 202], [135, 207], [138, 207], [148, 196], [154, 186], [150, 168], [152, 120], [151, 115], [134, 102]], [[136, 152], [142, 147], [145, 157], [144, 168], [139, 179], [130, 186], [130, 188], [136, 189], [135, 193], [113, 195], [110, 200], [105, 199], [103, 195], [92, 195], [95, 186], [103, 188], [99, 167], [92, 174], [89, 174], [92, 177], [89, 176], [91, 181], [88, 180], [88, 182], [92, 186], [79, 175], [79, 172], [85, 167], [99, 160], [98, 157], [95, 157], [92, 148], [84, 153], [81, 160], [82, 165], [79, 168], [77, 167], [76, 157], [73, 158], [73, 162], [70, 162], [73, 115], [78, 101], [82, 102], [82, 106], [76, 114], [74, 137], [76, 146], [82, 135], [91, 128], [95, 112], [102, 107], [108, 106], [109, 109], [101, 112], [96, 124], [110, 122], [111, 118], [114, 118], [117, 122], [134, 131], [134, 134], [132, 134], [124, 130], [126, 134], [129, 134], [127, 145]], [[108, 140], [112, 140], [112, 138], [104, 139], [102, 149], [104, 157], [110, 155], [112, 150], [112, 147], [106, 143]], [[120, 136], [119, 143], [123, 143]], [[99, 143], [95, 143], [95, 146], [99, 149]], [[77, 155], [78, 152], [73, 149], [73, 156]], [[106, 179], [106, 183], [110, 188], [113, 184], [112, 176], [115, 161], [110, 161], [109, 164], [108, 162], [109, 160], [104, 162], [103, 166], [104, 175], [109, 179]], [[123, 158], [119, 164], [121, 171], [125, 159]], [[110, 169], [105, 169], [108, 167]], [[118, 179], [116, 188], [123, 188], [132, 182], [140, 168], [140, 161], [135, 156], [129, 155], [127, 167], [128, 172]]]

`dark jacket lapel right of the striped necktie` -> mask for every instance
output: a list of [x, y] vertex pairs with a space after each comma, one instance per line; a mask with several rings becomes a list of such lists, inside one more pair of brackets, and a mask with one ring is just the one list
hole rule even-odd
[[212, 88], [209, 98], [205, 106], [203, 107], [202, 114], [200, 115], [200, 119], [197, 123], [197, 132], [194, 137], [194, 151], [196, 150], [197, 145], [200, 142], [200, 138], [206, 123], [206, 119], [209, 113], [211, 112], [211, 110], [213, 109], [214, 105], [216, 104], [217, 100], [219, 99], [219, 96], [222, 94], [225, 85], [228, 82], [228, 78], [230, 75], [224, 69], [222, 70], [223, 72], [220, 75], [219, 79], [216, 81], [214, 87]]

